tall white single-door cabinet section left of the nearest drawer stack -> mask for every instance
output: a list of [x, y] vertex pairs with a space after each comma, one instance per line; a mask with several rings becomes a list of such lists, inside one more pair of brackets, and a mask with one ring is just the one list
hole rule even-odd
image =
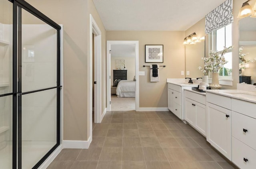
[[231, 98], [206, 94], [206, 140], [231, 160]]

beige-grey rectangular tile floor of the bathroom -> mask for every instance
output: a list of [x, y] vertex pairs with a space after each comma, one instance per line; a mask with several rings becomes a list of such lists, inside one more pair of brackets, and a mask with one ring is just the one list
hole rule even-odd
[[107, 112], [89, 149], [63, 149], [47, 169], [237, 169], [171, 112]]

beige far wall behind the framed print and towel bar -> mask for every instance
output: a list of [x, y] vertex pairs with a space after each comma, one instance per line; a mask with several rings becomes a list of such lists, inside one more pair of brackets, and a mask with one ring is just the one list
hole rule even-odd
[[[107, 40], [139, 41], [139, 71], [145, 71], [140, 76], [140, 107], [167, 107], [167, 78], [185, 78], [180, 75], [185, 70], [185, 48], [182, 45], [184, 31], [107, 31]], [[164, 63], [161, 67], [160, 82], [150, 83], [149, 67], [145, 63], [145, 45], [164, 45]]]

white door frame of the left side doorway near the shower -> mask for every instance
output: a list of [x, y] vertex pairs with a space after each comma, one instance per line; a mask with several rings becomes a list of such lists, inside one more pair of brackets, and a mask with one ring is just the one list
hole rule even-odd
[[88, 57], [88, 106], [87, 106], [87, 117], [89, 119], [89, 131], [88, 140], [92, 140], [92, 35], [94, 34], [94, 123], [100, 123], [102, 120], [101, 116], [101, 31], [95, 22], [92, 14], [90, 14], [90, 44], [89, 44], [89, 57]]

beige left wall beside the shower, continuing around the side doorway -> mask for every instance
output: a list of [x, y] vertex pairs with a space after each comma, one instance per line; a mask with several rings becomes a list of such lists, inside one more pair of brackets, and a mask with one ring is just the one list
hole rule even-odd
[[102, 32], [102, 110], [104, 94], [105, 29], [92, 0], [26, 0], [58, 24], [63, 24], [64, 140], [88, 140], [88, 53], [91, 13]]

